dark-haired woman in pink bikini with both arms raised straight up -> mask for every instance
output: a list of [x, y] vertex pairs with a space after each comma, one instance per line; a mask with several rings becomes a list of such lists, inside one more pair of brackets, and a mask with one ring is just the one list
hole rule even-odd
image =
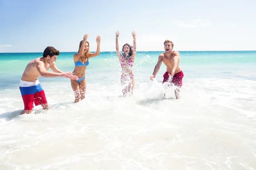
[[129, 44], [125, 44], [122, 47], [122, 54], [119, 51], [118, 38], [120, 32], [116, 32], [116, 54], [122, 67], [121, 85], [123, 87], [122, 92], [124, 96], [133, 95], [134, 91], [134, 74], [132, 71], [134, 59], [136, 56], [136, 32], [132, 31], [133, 47]]

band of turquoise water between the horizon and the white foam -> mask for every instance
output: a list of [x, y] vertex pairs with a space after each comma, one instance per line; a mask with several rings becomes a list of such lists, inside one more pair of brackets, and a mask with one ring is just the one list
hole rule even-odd
[[[154, 69], [158, 56], [163, 51], [138, 51], [134, 63], [136, 76], [142, 76], [146, 72], [148, 75]], [[63, 71], [73, 71], [74, 52], [61, 52], [58, 56], [56, 65]], [[0, 88], [11, 88], [17, 86], [26, 64], [42, 53], [0, 53]], [[186, 72], [186, 77], [225, 77], [225, 78], [244, 78], [256, 80], [256, 77], [244, 75], [236, 72], [243, 72], [247, 69], [255, 68], [256, 51], [180, 51], [181, 67]], [[163, 66], [164, 67], [164, 66]], [[162, 67], [162, 68], [163, 68]], [[117, 71], [119, 62], [116, 52], [101, 52], [100, 56], [90, 59], [90, 66], [87, 71], [104, 71], [111, 74]], [[164, 69], [161, 69], [164, 71]], [[183, 71], [183, 72], [184, 72]], [[216, 71], [214, 74], [213, 72]], [[204, 72], [204, 74], [202, 74]], [[143, 73], [140, 75], [140, 73]], [[163, 74], [163, 72], [161, 72]], [[212, 74], [212, 75], [209, 75]], [[218, 75], [217, 75], [218, 74]], [[107, 75], [106, 75], [107, 76]], [[10, 79], [10, 77], [12, 77]], [[43, 81], [44, 77], [41, 78]], [[141, 78], [143, 79], [143, 78]], [[48, 81], [62, 81], [49, 79]], [[145, 80], [145, 79], [143, 79]], [[8, 87], [6, 87], [8, 85]]]

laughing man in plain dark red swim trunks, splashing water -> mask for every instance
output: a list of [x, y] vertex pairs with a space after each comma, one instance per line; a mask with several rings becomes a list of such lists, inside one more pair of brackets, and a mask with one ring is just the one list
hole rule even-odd
[[[154, 68], [153, 75], [150, 79], [153, 80], [157, 72], [160, 69], [162, 62], [166, 65], [166, 73], [163, 74], [163, 83], [168, 82], [169, 77], [172, 78], [171, 83], [173, 83], [177, 88], [175, 89], [176, 99], [179, 99], [180, 88], [182, 86], [183, 72], [180, 69], [180, 53], [178, 51], [172, 51], [173, 43], [170, 40], [165, 40], [164, 49], [165, 52], [160, 54], [158, 57], [157, 65]], [[165, 94], [164, 94], [165, 96]]]

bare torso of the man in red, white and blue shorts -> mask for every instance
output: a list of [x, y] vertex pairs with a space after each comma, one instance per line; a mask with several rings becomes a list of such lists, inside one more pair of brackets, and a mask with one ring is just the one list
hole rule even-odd
[[44, 64], [45, 69], [48, 71], [51, 65], [49, 63], [45, 64], [40, 58], [33, 59], [28, 63], [25, 68], [25, 71], [21, 77], [21, 80], [26, 82], [35, 82], [39, 77], [41, 77], [40, 73], [38, 72], [37, 66], [38, 64]]

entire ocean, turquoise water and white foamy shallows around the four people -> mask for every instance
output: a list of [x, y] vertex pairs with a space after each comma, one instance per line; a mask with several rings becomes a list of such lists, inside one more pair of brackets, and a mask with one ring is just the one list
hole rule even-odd
[[[162, 52], [137, 52], [133, 96], [122, 97], [116, 52], [101, 52], [84, 100], [70, 79], [40, 77], [51, 109], [21, 116], [20, 78], [42, 53], [0, 53], [0, 170], [255, 170], [256, 51], [180, 51], [178, 100], [164, 64], [149, 79]], [[74, 53], [57, 67], [72, 72]]]

